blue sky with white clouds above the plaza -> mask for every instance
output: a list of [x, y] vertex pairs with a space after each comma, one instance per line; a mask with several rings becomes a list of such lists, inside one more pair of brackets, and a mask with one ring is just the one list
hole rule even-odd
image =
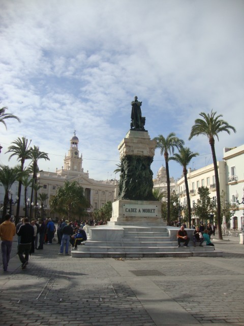
[[[212, 163], [206, 137], [188, 140], [201, 112], [236, 128], [216, 139], [218, 160], [243, 144], [242, 0], [1, 0], [0, 18], [0, 107], [21, 119], [0, 125], [0, 164], [17, 164], [6, 151], [25, 136], [55, 172], [76, 130], [84, 171], [114, 178], [135, 95], [151, 139], [175, 132], [200, 154], [190, 168]], [[157, 149], [154, 178], [162, 165]]]

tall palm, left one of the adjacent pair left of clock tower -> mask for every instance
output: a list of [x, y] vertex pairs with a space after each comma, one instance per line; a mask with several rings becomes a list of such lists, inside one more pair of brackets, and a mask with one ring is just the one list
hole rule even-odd
[[[20, 170], [21, 172], [24, 171], [24, 162], [26, 159], [31, 158], [30, 153], [31, 150], [29, 149], [29, 145], [31, 145], [32, 140], [28, 142], [26, 137], [22, 137], [21, 139], [18, 137], [17, 140], [12, 142], [13, 145], [9, 146], [9, 150], [6, 153], [12, 154], [9, 156], [9, 160], [13, 156], [18, 156], [18, 161], [20, 162]], [[19, 209], [20, 209], [20, 196], [21, 196], [21, 185], [22, 181], [21, 178], [19, 179], [19, 186], [18, 186], [18, 201], [17, 201], [17, 209], [16, 209], [16, 219], [15, 223], [18, 223], [19, 220]]]

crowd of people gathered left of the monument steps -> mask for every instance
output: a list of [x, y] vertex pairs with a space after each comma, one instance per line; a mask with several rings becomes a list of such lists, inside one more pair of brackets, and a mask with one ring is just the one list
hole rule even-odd
[[[88, 221], [84, 225], [84, 229], [88, 227]], [[17, 234], [18, 250], [17, 254], [21, 261], [21, 268], [25, 269], [29, 256], [36, 250], [43, 250], [43, 244], [52, 244], [56, 227], [51, 218], [46, 220], [32, 220], [23, 218], [15, 227], [11, 221], [11, 215], [6, 214], [5, 221], [0, 225], [1, 250], [3, 258], [3, 269], [8, 271], [8, 264], [12, 250], [12, 243], [15, 234]], [[65, 254], [68, 254], [69, 243], [72, 249], [76, 250], [78, 244], [87, 239], [83, 225], [69, 221], [62, 221], [57, 228], [58, 243], [60, 243], [60, 253], [63, 254], [65, 246]]]

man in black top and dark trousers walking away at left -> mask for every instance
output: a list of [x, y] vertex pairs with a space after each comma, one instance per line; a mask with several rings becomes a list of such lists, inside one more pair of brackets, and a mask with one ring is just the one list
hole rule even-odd
[[24, 219], [24, 224], [21, 225], [17, 234], [20, 235], [18, 256], [22, 263], [22, 269], [25, 269], [26, 265], [28, 264], [29, 252], [32, 249], [32, 239], [34, 237], [34, 228], [31, 224], [29, 224], [29, 220], [27, 218]]

